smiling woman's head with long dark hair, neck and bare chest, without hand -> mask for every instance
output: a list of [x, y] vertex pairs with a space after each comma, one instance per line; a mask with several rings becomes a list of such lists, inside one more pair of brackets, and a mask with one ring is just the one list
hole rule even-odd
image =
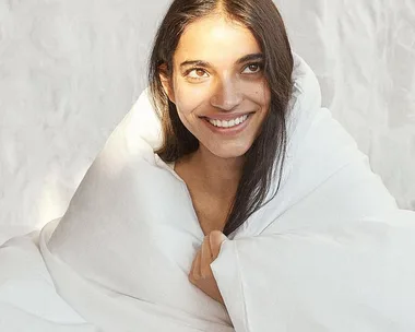
[[283, 167], [293, 57], [281, 15], [266, 0], [174, 1], [150, 64], [156, 153], [175, 163], [204, 233], [229, 235]]

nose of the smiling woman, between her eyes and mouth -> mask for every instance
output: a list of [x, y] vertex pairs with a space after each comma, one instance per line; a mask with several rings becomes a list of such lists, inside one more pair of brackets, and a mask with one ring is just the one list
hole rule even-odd
[[211, 97], [211, 105], [223, 110], [233, 110], [241, 102], [242, 94], [233, 80], [218, 82]]

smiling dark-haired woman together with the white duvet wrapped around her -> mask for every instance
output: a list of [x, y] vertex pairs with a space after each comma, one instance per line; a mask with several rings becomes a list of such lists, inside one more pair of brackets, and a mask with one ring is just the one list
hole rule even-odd
[[150, 68], [161, 118], [143, 94], [62, 218], [0, 250], [1, 331], [415, 330], [414, 213], [271, 0], [174, 1]]

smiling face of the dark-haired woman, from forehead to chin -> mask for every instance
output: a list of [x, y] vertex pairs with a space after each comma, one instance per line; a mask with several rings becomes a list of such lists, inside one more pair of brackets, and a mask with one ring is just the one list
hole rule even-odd
[[258, 42], [240, 24], [210, 16], [185, 29], [173, 86], [164, 85], [201, 149], [235, 158], [252, 145], [270, 108], [263, 62]]

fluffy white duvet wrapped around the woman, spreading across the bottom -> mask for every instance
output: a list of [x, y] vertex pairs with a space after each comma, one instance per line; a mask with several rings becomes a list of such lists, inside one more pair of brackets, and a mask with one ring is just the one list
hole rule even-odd
[[0, 331], [415, 331], [415, 213], [398, 210], [295, 60], [281, 190], [211, 265], [226, 309], [188, 281], [203, 232], [153, 153], [143, 94], [62, 218], [0, 249]]

